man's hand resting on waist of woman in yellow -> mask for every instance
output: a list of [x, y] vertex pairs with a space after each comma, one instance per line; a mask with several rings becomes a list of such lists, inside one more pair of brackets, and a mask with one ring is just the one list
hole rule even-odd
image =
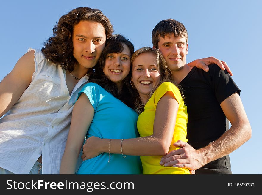
[[[201, 153], [188, 143], [178, 140], [173, 145], [180, 148], [163, 156], [160, 165], [164, 165], [165, 167], [187, 168], [189, 170], [196, 170], [204, 165], [202, 164], [203, 159]], [[194, 174], [193, 172], [190, 173]]]

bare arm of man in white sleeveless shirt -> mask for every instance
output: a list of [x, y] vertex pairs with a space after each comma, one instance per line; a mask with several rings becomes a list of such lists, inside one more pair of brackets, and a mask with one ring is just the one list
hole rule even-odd
[[13, 70], [0, 83], [0, 117], [2, 117], [24, 93], [35, 72], [34, 50], [24, 54]]

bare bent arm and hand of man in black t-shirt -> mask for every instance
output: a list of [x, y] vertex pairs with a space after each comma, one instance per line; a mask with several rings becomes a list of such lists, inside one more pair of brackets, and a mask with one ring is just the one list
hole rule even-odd
[[216, 141], [198, 150], [195, 150], [188, 143], [178, 141], [174, 145], [181, 148], [163, 156], [160, 164], [196, 170], [211, 161], [228, 155], [249, 140], [251, 126], [239, 95], [234, 93], [220, 105], [232, 125], [228, 131]]

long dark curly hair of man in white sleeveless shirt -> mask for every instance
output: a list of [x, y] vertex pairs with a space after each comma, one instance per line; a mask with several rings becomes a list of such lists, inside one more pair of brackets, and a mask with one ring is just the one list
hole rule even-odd
[[105, 28], [106, 39], [113, 34], [112, 24], [99, 9], [78, 7], [63, 15], [53, 28], [54, 36], [43, 44], [42, 52], [48, 60], [65, 70], [73, 71], [77, 63], [73, 56], [72, 34], [74, 25], [80, 21], [101, 23]]

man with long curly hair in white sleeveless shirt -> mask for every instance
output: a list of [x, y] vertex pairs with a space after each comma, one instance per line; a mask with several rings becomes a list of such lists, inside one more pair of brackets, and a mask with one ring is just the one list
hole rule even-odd
[[0, 83], [0, 174], [59, 173], [73, 103], [113, 28], [100, 10], [78, 7], [53, 32]]

